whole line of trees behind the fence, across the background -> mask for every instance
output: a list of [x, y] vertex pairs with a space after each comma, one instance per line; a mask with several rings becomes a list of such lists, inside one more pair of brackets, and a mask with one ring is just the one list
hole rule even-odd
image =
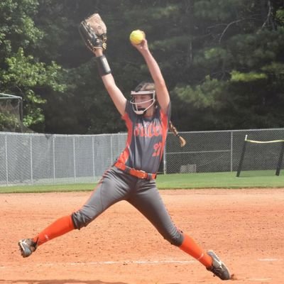
[[126, 97], [149, 79], [129, 43], [131, 31], [145, 31], [180, 131], [284, 126], [282, 0], [2, 0], [0, 92], [23, 98], [26, 128], [125, 131], [78, 33], [95, 12], [107, 24], [106, 55]]

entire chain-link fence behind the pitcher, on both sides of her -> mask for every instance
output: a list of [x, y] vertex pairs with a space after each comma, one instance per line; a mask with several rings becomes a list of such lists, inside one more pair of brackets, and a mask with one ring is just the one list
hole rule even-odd
[[[248, 135], [251, 140], [284, 138], [284, 129], [182, 132], [180, 148], [169, 133], [160, 173], [236, 171]], [[126, 133], [48, 135], [0, 132], [0, 185], [97, 182], [124, 150]], [[242, 170], [275, 170], [279, 143], [251, 144]]]

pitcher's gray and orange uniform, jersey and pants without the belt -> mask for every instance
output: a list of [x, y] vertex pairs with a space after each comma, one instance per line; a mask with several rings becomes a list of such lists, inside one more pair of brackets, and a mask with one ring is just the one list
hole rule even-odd
[[[137, 170], [156, 173], [163, 155], [169, 116], [170, 105], [168, 114], [163, 114], [160, 108], [157, 108], [153, 118], [146, 119], [135, 114], [131, 104], [127, 102], [126, 114], [122, 119], [126, 121], [129, 132], [126, 148], [118, 161]], [[136, 207], [171, 244], [182, 244], [182, 233], [173, 224], [165, 209], [155, 180], [136, 178], [114, 166], [104, 173], [97, 189], [92, 192], [84, 206], [72, 214], [75, 228], [87, 226], [104, 210], [121, 200], [126, 200]]]

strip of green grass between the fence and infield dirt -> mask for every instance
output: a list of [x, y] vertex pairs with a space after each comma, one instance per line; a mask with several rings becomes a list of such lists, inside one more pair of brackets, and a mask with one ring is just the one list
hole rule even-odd
[[[188, 173], [158, 175], [157, 185], [163, 189], [193, 188], [247, 188], [247, 187], [284, 187], [284, 173], [279, 176], [275, 171], [246, 171], [236, 178], [236, 172], [229, 173]], [[68, 185], [24, 185], [0, 187], [0, 193], [14, 192], [72, 192], [93, 190], [95, 183]]]

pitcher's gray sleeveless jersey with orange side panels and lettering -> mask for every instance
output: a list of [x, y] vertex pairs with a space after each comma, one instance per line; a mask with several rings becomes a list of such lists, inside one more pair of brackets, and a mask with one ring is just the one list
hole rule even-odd
[[155, 109], [153, 117], [137, 115], [130, 104], [126, 103], [126, 113], [122, 116], [126, 123], [128, 136], [126, 148], [119, 155], [118, 162], [130, 168], [156, 173], [163, 156], [165, 139], [170, 121], [170, 105], [167, 114], [160, 107]]

